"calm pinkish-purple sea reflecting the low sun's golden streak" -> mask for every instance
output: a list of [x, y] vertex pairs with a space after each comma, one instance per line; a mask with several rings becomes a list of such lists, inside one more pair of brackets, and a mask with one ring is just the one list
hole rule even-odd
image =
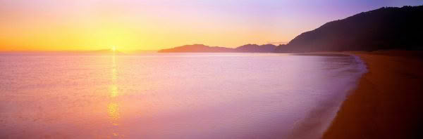
[[319, 138], [349, 55], [0, 53], [0, 138]]

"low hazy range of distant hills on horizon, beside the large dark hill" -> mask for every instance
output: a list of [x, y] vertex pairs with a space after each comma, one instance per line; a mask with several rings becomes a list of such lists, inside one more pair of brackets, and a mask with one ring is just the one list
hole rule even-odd
[[218, 46], [204, 46], [203, 44], [178, 46], [160, 50], [159, 53], [273, 53], [276, 46], [266, 44], [259, 46], [257, 44], [247, 44], [237, 48], [226, 48]]

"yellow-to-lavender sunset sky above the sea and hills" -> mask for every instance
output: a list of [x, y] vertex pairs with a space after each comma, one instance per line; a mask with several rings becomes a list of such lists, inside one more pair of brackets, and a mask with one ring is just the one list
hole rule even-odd
[[325, 22], [421, 0], [0, 0], [0, 51], [159, 50], [287, 42]]

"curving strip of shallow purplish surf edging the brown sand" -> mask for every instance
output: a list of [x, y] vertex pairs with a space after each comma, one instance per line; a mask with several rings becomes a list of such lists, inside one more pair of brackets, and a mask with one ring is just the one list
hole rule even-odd
[[288, 136], [289, 138], [316, 138], [321, 137], [326, 133], [326, 130], [331, 126], [335, 119], [337, 112], [341, 109], [343, 101], [346, 97], [355, 91], [361, 77], [368, 72], [367, 65], [359, 56], [351, 53], [340, 52], [318, 52], [318, 53], [292, 53], [290, 55], [304, 55], [304, 56], [323, 56], [323, 57], [350, 57], [357, 62], [357, 69], [360, 72], [350, 73], [350, 77], [354, 78], [348, 87], [338, 95], [328, 98], [323, 102], [316, 104], [314, 109], [307, 114], [305, 119], [298, 122], [293, 132]]

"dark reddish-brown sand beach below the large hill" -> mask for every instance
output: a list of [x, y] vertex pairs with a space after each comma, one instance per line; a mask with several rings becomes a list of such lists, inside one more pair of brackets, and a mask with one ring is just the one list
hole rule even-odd
[[351, 52], [366, 62], [323, 138], [422, 138], [423, 53]]

